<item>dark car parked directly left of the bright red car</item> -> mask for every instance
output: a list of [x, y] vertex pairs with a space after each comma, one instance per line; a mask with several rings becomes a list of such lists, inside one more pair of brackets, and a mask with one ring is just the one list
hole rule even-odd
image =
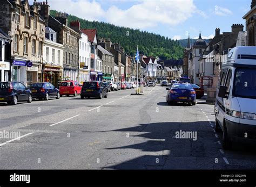
[[49, 82], [33, 83], [29, 86], [32, 98], [49, 100], [49, 98], [60, 98], [59, 89]]

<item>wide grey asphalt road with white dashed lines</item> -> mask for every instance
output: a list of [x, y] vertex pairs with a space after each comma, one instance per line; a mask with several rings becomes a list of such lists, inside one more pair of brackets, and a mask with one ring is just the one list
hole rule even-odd
[[159, 85], [133, 92], [0, 104], [0, 132], [22, 136], [0, 139], [0, 169], [256, 169], [254, 148], [222, 149], [214, 105], [169, 106]]

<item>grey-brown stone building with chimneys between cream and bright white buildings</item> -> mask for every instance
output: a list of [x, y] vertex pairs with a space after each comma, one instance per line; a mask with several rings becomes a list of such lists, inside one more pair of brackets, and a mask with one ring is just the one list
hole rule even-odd
[[63, 49], [63, 75], [62, 78], [78, 81], [79, 73], [79, 39], [80, 33], [68, 26], [66, 13], [58, 12], [56, 17], [50, 16], [50, 6], [48, 2], [40, 4], [40, 15], [45, 20], [45, 25], [57, 32], [56, 41], [62, 44]]

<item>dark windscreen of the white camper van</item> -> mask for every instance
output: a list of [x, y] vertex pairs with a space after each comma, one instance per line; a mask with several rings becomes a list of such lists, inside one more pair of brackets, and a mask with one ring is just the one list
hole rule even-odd
[[256, 68], [238, 68], [234, 78], [235, 97], [256, 98]]

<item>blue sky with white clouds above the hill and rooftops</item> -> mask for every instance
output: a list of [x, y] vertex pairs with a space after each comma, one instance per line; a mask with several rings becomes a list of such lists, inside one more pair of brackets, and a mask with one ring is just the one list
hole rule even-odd
[[[42, 2], [43, 0], [38, 0]], [[29, 1], [30, 3], [33, 0]], [[50, 9], [168, 38], [213, 38], [243, 24], [252, 0], [48, 0]], [[244, 28], [245, 30], [245, 28]]]

